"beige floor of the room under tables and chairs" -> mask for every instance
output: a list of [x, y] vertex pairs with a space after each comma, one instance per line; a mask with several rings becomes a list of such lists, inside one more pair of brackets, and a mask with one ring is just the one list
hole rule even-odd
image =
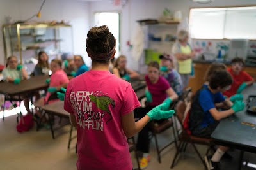
[[[15, 170], [15, 169], [76, 169], [76, 141], [72, 141], [71, 148], [68, 150], [68, 134], [70, 126], [66, 126], [59, 131], [56, 131], [56, 139], [52, 139], [51, 131], [49, 129], [40, 129], [36, 131], [35, 126], [28, 132], [22, 134], [15, 129], [16, 115], [6, 117], [3, 121], [0, 120], [0, 169]], [[159, 136], [159, 143], [163, 143], [172, 139], [172, 131], [166, 131]], [[204, 155], [206, 148], [198, 146], [202, 155]], [[157, 161], [157, 154], [154, 140], [150, 143], [151, 162], [147, 170], [155, 169], [170, 169], [170, 164], [175, 154], [175, 145], [171, 145], [164, 150], [162, 155], [162, 163]], [[230, 152], [233, 159], [223, 159], [221, 162], [221, 169], [237, 169], [238, 151]], [[247, 153], [246, 153], [247, 154]], [[255, 155], [246, 156], [246, 160], [250, 160]], [[137, 167], [134, 159], [134, 153], [131, 153], [134, 167]], [[253, 161], [254, 161], [253, 160]], [[256, 163], [256, 160], [254, 161]], [[196, 156], [193, 148], [188, 145], [185, 154], [179, 157], [179, 162], [173, 168], [174, 170], [203, 170], [204, 166]], [[243, 167], [251, 169], [249, 167]]]

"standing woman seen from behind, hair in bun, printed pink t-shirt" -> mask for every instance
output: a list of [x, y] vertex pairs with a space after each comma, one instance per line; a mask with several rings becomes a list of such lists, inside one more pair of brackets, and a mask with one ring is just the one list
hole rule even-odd
[[[116, 39], [106, 25], [92, 27], [86, 51], [92, 69], [68, 83], [64, 108], [77, 127], [77, 169], [131, 170], [127, 138], [138, 133], [152, 119], [166, 118], [165, 104], [152, 109], [138, 122], [134, 108], [140, 106], [131, 84], [109, 72]], [[63, 96], [58, 93], [58, 96]]]

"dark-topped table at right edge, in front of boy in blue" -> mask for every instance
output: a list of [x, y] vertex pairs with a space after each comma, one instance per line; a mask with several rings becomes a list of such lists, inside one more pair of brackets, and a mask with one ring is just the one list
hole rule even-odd
[[[246, 87], [242, 92], [244, 103], [247, 104], [249, 95], [256, 95], [255, 83]], [[256, 153], [256, 114], [247, 113], [246, 107], [243, 111], [234, 113], [234, 115], [220, 121], [211, 137], [217, 145], [228, 146], [241, 150], [240, 159], [243, 159], [243, 153]], [[239, 169], [241, 169], [240, 161]]]

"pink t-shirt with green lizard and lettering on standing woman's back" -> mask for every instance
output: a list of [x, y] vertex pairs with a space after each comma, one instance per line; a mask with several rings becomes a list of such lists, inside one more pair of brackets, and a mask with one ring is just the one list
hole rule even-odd
[[121, 116], [140, 106], [131, 84], [90, 70], [68, 83], [64, 109], [77, 121], [77, 169], [131, 170]]

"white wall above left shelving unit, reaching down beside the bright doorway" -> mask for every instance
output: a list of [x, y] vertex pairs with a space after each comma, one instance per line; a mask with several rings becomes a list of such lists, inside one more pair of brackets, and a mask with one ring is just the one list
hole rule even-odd
[[[0, 25], [5, 23], [5, 17], [12, 17], [13, 22], [26, 20], [38, 12], [43, 1], [39, 0], [0, 0]], [[90, 60], [86, 54], [86, 34], [89, 29], [88, 3], [74, 0], [49, 0], [41, 11], [41, 18], [33, 18], [37, 21], [61, 21], [69, 22], [73, 29], [74, 53], [82, 55]], [[3, 32], [0, 31], [0, 37]], [[4, 64], [3, 41], [0, 41], [0, 64]], [[88, 63], [90, 65], [90, 63]]]

